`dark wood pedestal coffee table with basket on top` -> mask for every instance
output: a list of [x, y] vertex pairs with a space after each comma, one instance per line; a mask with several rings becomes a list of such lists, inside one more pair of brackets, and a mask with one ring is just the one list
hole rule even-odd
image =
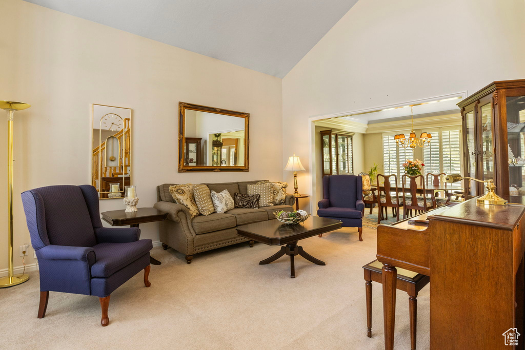
[[[282, 224], [279, 220], [255, 222], [255, 224], [237, 227], [237, 235], [265, 243], [269, 246], [282, 246], [271, 257], [259, 262], [260, 265], [268, 264], [282, 257], [290, 256], [290, 278], [295, 278], [294, 257], [300, 255], [304, 259], [318, 265], [325, 265], [324, 261], [316, 259], [297, 245], [301, 239], [317, 236], [341, 228], [340, 220], [311, 216], [306, 221], [296, 225]], [[283, 246], [286, 245], [286, 246]]]

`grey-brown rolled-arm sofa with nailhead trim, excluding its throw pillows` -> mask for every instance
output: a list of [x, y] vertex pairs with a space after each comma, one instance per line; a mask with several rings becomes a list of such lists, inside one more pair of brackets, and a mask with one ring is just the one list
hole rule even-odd
[[[263, 181], [263, 180], [259, 180]], [[210, 190], [219, 193], [227, 189], [234, 197], [234, 193], [247, 193], [247, 185], [254, 185], [259, 181], [230, 182], [206, 184]], [[235, 208], [226, 213], [213, 213], [191, 217], [190, 212], [181, 204], [176, 204], [170, 194], [170, 186], [157, 186], [157, 203], [154, 207], [166, 211], [168, 217], [160, 222], [160, 241], [162, 247], [169, 247], [183, 253], [187, 263], [191, 263], [193, 255], [207, 250], [234, 245], [249, 239], [237, 236], [237, 226], [252, 222], [275, 220], [274, 211], [292, 211], [295, 197], [287, 195], [285, 205], [275, 205], [258, 209]], [[250, 241], [253, 247], [253, 241]]]

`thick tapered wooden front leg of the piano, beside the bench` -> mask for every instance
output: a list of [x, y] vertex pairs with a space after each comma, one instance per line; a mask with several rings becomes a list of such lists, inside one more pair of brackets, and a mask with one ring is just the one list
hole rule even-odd
[[394, 349], [395, 296], [397, 270], [383, 263], [383, 320], [385, 329], [385, 350]]

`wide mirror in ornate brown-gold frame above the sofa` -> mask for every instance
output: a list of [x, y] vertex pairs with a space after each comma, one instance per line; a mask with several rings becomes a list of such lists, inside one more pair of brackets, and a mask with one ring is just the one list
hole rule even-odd
[[178, 172], [248, 171], [249, 113], [179, 102]]

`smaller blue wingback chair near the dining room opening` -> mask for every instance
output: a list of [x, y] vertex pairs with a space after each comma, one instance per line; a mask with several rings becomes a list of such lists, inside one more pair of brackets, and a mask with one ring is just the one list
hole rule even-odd
[[[357, 227], [363, 234], [363, 179], [355, 175], [323, 177], [323, 199], [317, 204], [317, 215], [343, 221], [343, 227]], [[319, 235], [321, 237], [321, 235]]]

